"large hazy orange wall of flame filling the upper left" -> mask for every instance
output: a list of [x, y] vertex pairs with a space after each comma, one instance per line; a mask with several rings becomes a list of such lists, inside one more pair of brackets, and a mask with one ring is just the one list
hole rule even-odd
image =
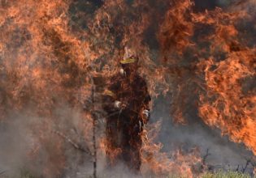
[[[76, 108], [82, 104], [79, 94], [84, 98], [90, 94], [84, 89], [86, 80], [80, 82], [80, 78], [86, 77], [81, 70], [87, 65], [85, 59], [89, 57], [85, 57], [84, 51], [89, 51], [89, 47], [68, 28], [68, 2], [1, 3], [0, 56], [1, 74], [5, 75], [0, 81], [1, 86], [5, 86], [2, 115], [7, 116], [11, 108], [15, 112], [26, 112], [28, 117], [42, 118], [43, 122], [32, 126], [37, 129], [31, 129], [37, 138], [32, 143], [35, 146], [32, 158], [33, 162], [41, 161], [42, 175], [55, 177], [63, 172], [66, 158], [64, 142], [51, 134], [58, 122], [54, 108], [59, 105], [59, 98]], [[91, 55], [89, 59], [93, 59], [93, 52]], [[2, 121], [11, 122], [7, 118], [2, 117]], [[88, 133], [85, 135], [89, 137]], [[40, 160], [41, 157], [46, 159]], [[34, 165], [37, 167], [37, 161]]]

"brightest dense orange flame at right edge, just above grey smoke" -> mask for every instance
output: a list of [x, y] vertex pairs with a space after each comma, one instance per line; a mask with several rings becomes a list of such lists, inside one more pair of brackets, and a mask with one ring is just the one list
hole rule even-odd
[[[217, 126], [234, 142], [244, 142], [256, 153], [254, 91], [243, 86], [254, 77], [255, 51], [231, 53], [225, 61], [205, 61], [206, 95], [200, 95], [200, 117]], [[214, 67], [214, 69], [212, 69]]]

